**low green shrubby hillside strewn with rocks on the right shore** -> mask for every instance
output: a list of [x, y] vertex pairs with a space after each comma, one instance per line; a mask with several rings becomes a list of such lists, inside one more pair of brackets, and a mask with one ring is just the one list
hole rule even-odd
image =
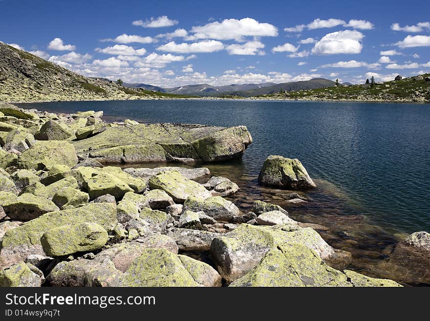
[[286, 93], [262, 95], [257, 99], [273, 100], [346, 100], [346, 101], [397, 101], [397, 102], [429, 102], [430, 74], [423, 74], [375, 83], [353, 86], [334, 86], [311, 90], [297, 90]]

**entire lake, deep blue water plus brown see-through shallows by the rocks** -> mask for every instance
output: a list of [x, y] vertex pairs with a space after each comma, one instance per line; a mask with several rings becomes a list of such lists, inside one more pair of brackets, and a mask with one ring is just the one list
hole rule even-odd
[[[294, 219], [328, 227], [319, 232], [334, 247], [352, 252], [359, 270], [372, 270], [407, 234], [430, 232], [428, 104], [142, 100], [20, 106], [103, 110], [108, 121], [246, 125], [254, 142], [243, 158], [205, 166], [237, 182], [241, 191], [232, 200], [244, 211], [261, 199], [285, 207]], [[271, 154], [301, 160], [318, 185], [302, 193], [310, 202], [287, 207], [284, 191], [258, 185]]]

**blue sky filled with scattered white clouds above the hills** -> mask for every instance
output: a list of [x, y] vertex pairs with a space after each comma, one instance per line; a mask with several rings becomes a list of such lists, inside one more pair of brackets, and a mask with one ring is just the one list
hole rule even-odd
[[88, 77], [174, 87], [430, 71], [430, 1], [0, 0], [0, 41]]

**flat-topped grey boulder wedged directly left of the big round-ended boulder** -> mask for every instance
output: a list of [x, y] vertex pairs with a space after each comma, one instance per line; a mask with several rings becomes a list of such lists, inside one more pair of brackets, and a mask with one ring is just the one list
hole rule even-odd
[[167, 236], [171, 237], [182, 251], [209, 251], [212, 240], [218, 233], [191, 229], [171, 228]]

